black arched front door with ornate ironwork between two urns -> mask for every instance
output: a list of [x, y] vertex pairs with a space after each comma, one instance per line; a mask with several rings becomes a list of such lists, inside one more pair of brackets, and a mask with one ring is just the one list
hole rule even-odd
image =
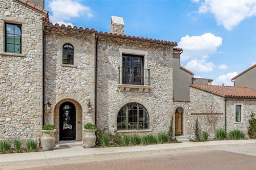
[[76, 107], [67, 101], [60, 105], [60, 141], [76, 139]]

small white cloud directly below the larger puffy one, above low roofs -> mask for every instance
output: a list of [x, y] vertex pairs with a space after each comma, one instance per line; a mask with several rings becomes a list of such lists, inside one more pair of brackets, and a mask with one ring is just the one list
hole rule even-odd
[[185, 67], [193, 71], [210, 72], [213, 70], [214, 65], [212, 62], [206, 62], [204, 59], [192, 59]]

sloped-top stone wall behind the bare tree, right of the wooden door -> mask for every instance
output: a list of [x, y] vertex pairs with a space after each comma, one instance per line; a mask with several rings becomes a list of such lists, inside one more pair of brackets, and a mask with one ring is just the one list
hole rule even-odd
[[218, 123], [216, 125], [216, 129], [222, 128], [225, 129], [225, 103], [224, 98], [220, 96], [216, 96], [213, 94], [209, 94], [208, 92], [204, 92], [201, 90], [197, 90], [196, 88], [190, 87], [190, 97], [191, 97], [191, 109], [190, 113], [188, 113], [187, 118], [187, 135], [189, 138], [195, 137], [195, 124], [196, 118], [199, 121], [199, 129], [201, 131], [208, 131], [209, 135], [212, 135], [212, 130], [210, 124], [207, 121], [207, 116], [203, 114], [193, 114], [193, 113], [206, 113], [205, 104], [210, 104], [211, 100], [214, 100], [214, 104], [216, 104], [215, 113], [222, 113], [219, 115]]

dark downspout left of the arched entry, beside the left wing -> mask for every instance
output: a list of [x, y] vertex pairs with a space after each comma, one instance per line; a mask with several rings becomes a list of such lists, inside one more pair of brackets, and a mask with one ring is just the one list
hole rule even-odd
[[45, 27], [43, 26], [43, 125], [46, 120], [46, 34], [44, 29]]

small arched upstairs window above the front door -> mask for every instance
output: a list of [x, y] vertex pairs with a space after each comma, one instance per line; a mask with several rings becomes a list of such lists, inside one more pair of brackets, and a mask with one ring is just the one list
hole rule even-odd
[[74, 48], [71, 44], [63, 45], [63, 64], [74, 64]]

